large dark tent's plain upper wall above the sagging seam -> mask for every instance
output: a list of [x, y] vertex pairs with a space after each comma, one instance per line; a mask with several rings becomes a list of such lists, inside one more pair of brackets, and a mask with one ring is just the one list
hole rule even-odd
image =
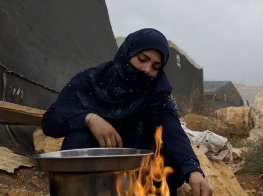
[[1, 0], [0, 63], [60, 91], [117, 51], [103, 0]]

